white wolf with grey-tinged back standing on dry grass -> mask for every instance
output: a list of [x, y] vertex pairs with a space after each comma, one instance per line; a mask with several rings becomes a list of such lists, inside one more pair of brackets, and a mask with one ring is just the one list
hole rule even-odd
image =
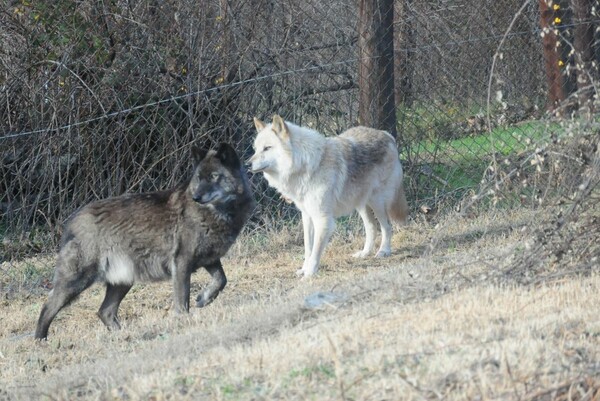
[[408, 204], [396, 141], [389, 133], [367, 127], [350, 128], [326, 138], [274, 116], [271, 124], [254, 119], [258, 135], [250, 170], [263, 172], [269, 185], [292, 200], [302, 212], [304, 264], [298, 275], [312, 276], [335, 227], [335, 217], [357, 210], [366, 240], [355, 257], [373, 250], [377, 226], [381, 246], [376, 256], [390, 255], [390, 219], [403, 222]]

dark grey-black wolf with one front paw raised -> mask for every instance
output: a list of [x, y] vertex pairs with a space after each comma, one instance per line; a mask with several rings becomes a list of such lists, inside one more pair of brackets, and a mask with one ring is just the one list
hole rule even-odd
[[212, 282], [197, 297], [209, 304], [227, 279], [220, 258], [248, 219], [254, 201], [240, 160], [229, 145], [192, 149], [192, 178], [171, 190], [93, 202], [65, 226], [54, 275], [35, 332], [46, 338], [56, 314], [95, 281], [106, 283], [98, 316], [120, 327], [121, 300], [135, 282], [173, 279], [177, 312], [189, 311], [190, 277], [204, 267]]

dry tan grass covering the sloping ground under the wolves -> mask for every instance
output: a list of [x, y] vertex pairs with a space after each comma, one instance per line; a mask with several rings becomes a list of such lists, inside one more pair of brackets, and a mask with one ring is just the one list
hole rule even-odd
[[[347, 256], [362, 243], [346, 232], [303, 281], [297, 233], [254, 235], [224, 261], [228, 287], [207, 308], [172, 316], [169, 283], [137, 286], [124, 329], [108, 332], [95, 286], [43, 343], [31, 334], [45, 297], [22, 293], [0, 304], [0, 399], [597, 400], [600, 276], [490, 279], [541, 218], [412, 224], [384, 260]], [[346, 300], [304, 308], [317, 291]]]

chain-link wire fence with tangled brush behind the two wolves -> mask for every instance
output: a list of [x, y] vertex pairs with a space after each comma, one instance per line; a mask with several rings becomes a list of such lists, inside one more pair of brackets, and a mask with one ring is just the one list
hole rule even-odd
[[[227, 141], [247, 159], [254, 116], [279, 113], [325, 135], [358, 124], [363, 3], [5, 2], [0, 259], [54, 249], [62, 222], [85, 203], [183, 180], [193, 143]], [[409, 198], [452, 203], [477, 186], [493, 155], [548, 129], [539, 121], [548, 105], [540, 6], [397, 0], [394, 8]], [[559, 60], [567, 78], [568, 57]], [[294, 216], [262, 177], [252, 183], [251, 227]]]

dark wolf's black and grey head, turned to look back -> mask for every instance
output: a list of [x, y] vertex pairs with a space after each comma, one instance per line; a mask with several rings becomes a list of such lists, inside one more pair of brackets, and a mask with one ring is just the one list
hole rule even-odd
[[194, 175], [187, 191], [202, 205], [224, 204], [249, 193], [247, 179], [235, 150], [222, 143], [217, 150], [192, 148]]

